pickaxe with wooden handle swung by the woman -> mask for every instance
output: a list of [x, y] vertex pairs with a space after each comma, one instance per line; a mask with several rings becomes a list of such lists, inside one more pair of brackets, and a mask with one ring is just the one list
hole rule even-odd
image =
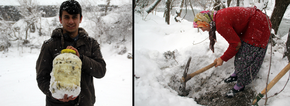
[[210, 65], [208, 65], [208, 66], [206, 66], [204, 68], [201, 68], [198, 71], [195, 71], [194, 73], [187, 74], [190, 61], [191, 61], [191, 57], [188, 58], [188, 61], [187, 61], [187, 64], [186, 64], [186, 67], [185, 67], [185, 70], [184, 70], [184, 73], [183, 73], [183, 77], [180, 78], [180, 82], [183, 84], [182, 85], [182, 92], [184, 93], [185, 96], [186, 96], [186, 94], [185, 94], [185, 85], [186, 85], [186, 82], [188, 80], [190, 80], [195, 75], [199, 75], [200, 73], [202, 73], [204, 71], [207, 71], [208, 69], [210, 69], [213, 66], [217, 65], [217, 61], [215, 61], [215, 62], [211, 63]]

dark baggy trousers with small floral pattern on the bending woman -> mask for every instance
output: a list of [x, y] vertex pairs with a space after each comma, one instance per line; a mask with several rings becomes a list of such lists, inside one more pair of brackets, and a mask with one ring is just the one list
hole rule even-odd
[[237, 73], [237, 84], [248, 85], [252, 82], [250, 70], [252, 72], [253, 80], [258, 74], [267, 51], [266, 48], [256, 47], [244, 41], [235, 56], [235, 73]]

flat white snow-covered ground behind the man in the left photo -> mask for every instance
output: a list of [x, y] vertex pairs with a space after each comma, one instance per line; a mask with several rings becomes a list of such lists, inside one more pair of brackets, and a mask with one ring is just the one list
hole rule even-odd
[[[104, 78], [94, 78], [95, 105], [132, 105], [132, 59], [127, 58], [127, 53], [113, 53], [111, 45], [103, 45], [101, 51], [107, 64], [107, 72]], [[0, 52], [1, 106], [45, 105], [45, 94], [40, 91], [36, 82], [35, 67], [39, 53], [40, 49], [32, 49], [30, 53], [30, 48], [20, 48], [18, 51], [17, 47], [10, 48], [8, 53]]]

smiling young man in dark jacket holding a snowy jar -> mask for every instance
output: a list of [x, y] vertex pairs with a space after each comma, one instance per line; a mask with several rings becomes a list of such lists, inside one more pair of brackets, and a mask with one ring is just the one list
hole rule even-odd
[[[100, 44], [96, 39], [79, 28], [82, 22], [82, 8], [78, 2], [68, 0], [60, 5], [60, 23], [63, 28], [53, 30], [51, 38], [44, 41], [36, 62], [36, 80], [39, 89], [46, 95], [46, 106], [93, 106], [95, 104], [95, 88], [93, 77], [103, 78], [106, 63], [102, 58]], [[49, 91], [50, 72], [53, 59], [63, 49], [72, 49], [82, 61], [81, 92], [79, 96], [65, 94], [63, 99], [53, 98]]]

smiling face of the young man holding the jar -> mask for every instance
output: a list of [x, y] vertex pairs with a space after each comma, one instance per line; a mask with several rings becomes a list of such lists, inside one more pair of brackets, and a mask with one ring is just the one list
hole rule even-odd
[[82, 17], [79, 17], [79, 14], [70, 15], [66, 11], [63, 11], [60, 18], [60, 23], [63, 25], [63, 33], [78, 34], [79, 23], [81, 22]]

